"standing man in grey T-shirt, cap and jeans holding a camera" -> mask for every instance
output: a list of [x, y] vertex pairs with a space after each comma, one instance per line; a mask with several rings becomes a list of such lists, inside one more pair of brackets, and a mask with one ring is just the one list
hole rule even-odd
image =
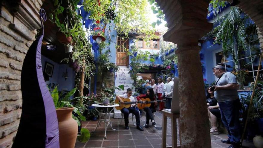
[[218, 78], [215, 86], [210, 88], [214, 91], [215, 99], [218, 101], [222, 122], [228, 131], [228, 139], [221, 140], [223, 143], [231, 144], [228, 148], [240, 148], [239, 131], [239, 97], [237, 92], [237, 81], [234, 74], [225, 72], [225, 67], [217, 65], [212, 68], [213, 74]]

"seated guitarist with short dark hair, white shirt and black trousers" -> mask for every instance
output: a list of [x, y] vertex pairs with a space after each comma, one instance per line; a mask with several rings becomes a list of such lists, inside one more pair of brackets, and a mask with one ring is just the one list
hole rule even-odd
[[[120, 103], [124, 103], [123, 100], [120, 99], [120, 97], [129, 98], [131, 100], [131, 102], [135, 101], [134, 97], [132, 97], [132, 89], [130, 89], [130, 88], [127, 89], [126, 94], [116, 96], [116, 98], [120, 100]], [[129, 113], [133, 113], [135, 115], [135, 118], [136, 118], [137, 129], [139, 129], [140, 131], [143, 131], [143, 128], [140, 126], [140, 113], [139, 113], [139, 111], [137, 111], [135, 109], [136, 105], [137, 105], [137, 103], [132, 104], [131, 107], [123, 108], [120, 111], [123, 113], [123, 116], [124, 116], [125, 129], [129, 129]]]

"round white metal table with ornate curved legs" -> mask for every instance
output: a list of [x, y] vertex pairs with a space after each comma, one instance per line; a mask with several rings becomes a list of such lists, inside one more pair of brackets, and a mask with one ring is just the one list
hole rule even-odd
[[[99, 104], [92, 104], [91, 106], [94, 106], [95, 107], [95, 110], [99, 113], [99, 121], [98, 121], [98, 123], [97, 123], [97, 125], [96, 125], [96, 128], [94, 129], [94, 131], [92, 131], [92, 132], [95, 132], [95, 130], [97, 129], [97, 127], [98, 126], [101, 126], [101, 122], [105, 122], [105, 136], [104, 136], [104, 138], [107, 138], [107, 136], [106, 136], [106, 131], [107, 131], [107, 128], [108, 128], [108, 126], [111, 126], [111, 129], [113, 130], [113, 131], [115, 131], [116, 129], [113, 129], [113, 127], [112, 127], [112, 123], [111, 123], [111, 119], [110, 119], [110, 114], [111, 114], [111, 112], [114, 110], [114, 107], [116, 107], [116, 106], [120, 106], [119, 104], [114, 104], [114, 105], [107, 105], [107, 106], [105, 106], [105, 105], [99, 105]], [[97, 107], [106, 107], [107, 108], [107, 111], [105, 112], [105, 119], [101, 119], [101, 117], [100, 117], [100, 111], [98, 111], [97, 110]], [[113, 109], [111, 109], [111, 111], [110, 112], [108, 112], [108, 108], [109, 107], [113, 107]], [[107, 115], [108, 115], [108, 117], [107, 117]]]

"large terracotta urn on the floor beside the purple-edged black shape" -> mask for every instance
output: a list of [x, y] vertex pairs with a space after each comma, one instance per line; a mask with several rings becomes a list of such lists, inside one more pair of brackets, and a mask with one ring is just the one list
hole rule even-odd
[[60, 148], [74, 148], [78, 124], [72, 118], [73, 107], [63, 107], [56, 109], [56, 115], [59, 122], [59, 145]]

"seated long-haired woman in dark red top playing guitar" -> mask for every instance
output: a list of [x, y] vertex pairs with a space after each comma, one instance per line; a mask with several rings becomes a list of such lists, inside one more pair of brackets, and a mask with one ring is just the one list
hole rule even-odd
[[[139, 101], [140, 98], [150, 98], [151, 101], [155, 101], [155, 94], [152, 88], [147, 89], [146, 94], [143, 94], [141, 96], [137, 96], [136, 97], [137, 100]], [[156, 112], [155, 110], [155, 106], [156, 106], [157, 101], [155, 101], [155, 103], [151, 103], [150, 107], [145, 107], [144, 111], [146, 112], [146, 124], [145, 124], [145, 128], [149, 127], [149, 119], [151, 119], [152, 121], [152, 125], [154, 126], [156, 123], [154, 121], [154, 118], [152, 116], [153, 112]]]

